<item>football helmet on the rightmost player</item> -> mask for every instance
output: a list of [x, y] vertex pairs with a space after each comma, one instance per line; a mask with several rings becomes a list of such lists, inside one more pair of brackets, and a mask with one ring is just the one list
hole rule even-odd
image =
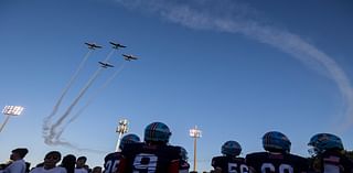
[[308, 145], [312, 147], [309, 150], [310, 154], [323, 153], [330, 149], [344, 150], [342, 140], [334, 134], [331, 133], [318, 133], [311, 137]]

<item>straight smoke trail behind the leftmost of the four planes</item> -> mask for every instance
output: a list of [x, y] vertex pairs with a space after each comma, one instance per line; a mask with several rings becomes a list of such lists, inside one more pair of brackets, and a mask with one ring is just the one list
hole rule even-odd
[[53, 111], [50, 113], [50, 116], [47, 116], [44, 119], [44, 123], [43, 123], [43, 131], [47, 131], [50, 129], [50, 121], [51, 118], [56, 113], [64, 96], [66, 95], [66, 93], [68, 91], [68, 89], [71, 88], [71, 86], [73, 85], [74, 80], [76, 80], [78, 73], [81, 72], [81, 69], [84, 67], [84, 65], [86, 64], [89, 55], [92, 54], [93, 50], [88, 50], [88, 52], [86, 53], [86, 55], [84, 56], [83, 61], [81, 62], [81, 64], [78, 65], [78, 67], [76, 68], [76, 72], [74, 73], [74, 75], [71, 77], [69, 82], [67, 83], [66, 87], [64, 88], [63, 93], [61, 94], [56, 105], [53, 108]]

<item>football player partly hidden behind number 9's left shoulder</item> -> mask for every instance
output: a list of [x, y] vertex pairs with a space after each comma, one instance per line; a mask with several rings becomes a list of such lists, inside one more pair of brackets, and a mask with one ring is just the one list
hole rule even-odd
[[[121, 151], [126, 144], [137, 142], [140, 142], [140, 138], [137, 134], [126, 134], [121, 138], [119, 149]], [[118, 170], [120, 159], [121, 152], [113, 152], [107, 154], [104, 159], [104, 173], [116, 173]]]

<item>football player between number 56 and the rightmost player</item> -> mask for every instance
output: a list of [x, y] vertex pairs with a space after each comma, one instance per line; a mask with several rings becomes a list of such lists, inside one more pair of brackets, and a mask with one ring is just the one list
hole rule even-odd
[[246, 155], [246, 164], [255, 173], [306, 173], [308, 160], [290, 153], [291, 142], [281, 132], [269, 131], [263, 137], [266, 152]]

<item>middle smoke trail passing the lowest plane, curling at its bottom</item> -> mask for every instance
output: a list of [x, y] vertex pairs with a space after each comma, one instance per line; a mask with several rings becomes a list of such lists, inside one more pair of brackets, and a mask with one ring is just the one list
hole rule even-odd
[[[114, 53], [114, 50], [108, 54], [108, 56], [105, 58], [105, 61], [108, 61], [110, 58], [110, 56], [113, 55], [113, 53]], [[47, 144], [54, 144], [54, 143], [55, 144], [64, 144], [64, 145], [68, 147], [68, 144], [67, 144], [68, 142], [66, 142], [66, 144], [65, 144], [65, 142], [62, 142], [60, 140], [60, 137], [61, 137], [61, 134], [63, 132], [63, 129], [60, 130], [58, 132], [56, 130], [63, 123], [63, 121], [67, 118], [67, 116], [71, 113], [72, 109], [81, 100], [81, 98], [84, 96], [84, 94], [87, 91], [87, 89], [94, 83], [94, 80], [98, 77], [100, 72], [101, 72], [101, 67], [98, 67], [98, 69], [94, 73], [94, 75], [90, 77], [90, 79], [86, 83], [85, 87], [82, 88], [82, 90], [79, 91], [78, 96], [75, 98], [73, 104], [64, 112], [64, 115], [62, 117], [60, 117], [54, 125], [49, 127], [49, 133], [44, 134], [44, 138], [45, 138], [44, 142], [45, 143], [47, 143]], [[65, 126], [65, 128], [66, 128], [66, 126]]]

